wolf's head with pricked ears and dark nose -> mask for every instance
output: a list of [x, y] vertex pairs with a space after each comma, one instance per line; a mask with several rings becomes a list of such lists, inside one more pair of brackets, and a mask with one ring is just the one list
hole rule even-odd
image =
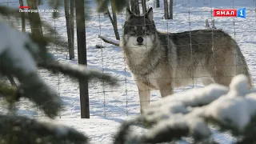
[[150, 48], [153, 46], [156, 32], [152, 7], [144, 15], [136, 15], [129, 9], [126, 10], [122, 39], [124, 46], [134, 50]]

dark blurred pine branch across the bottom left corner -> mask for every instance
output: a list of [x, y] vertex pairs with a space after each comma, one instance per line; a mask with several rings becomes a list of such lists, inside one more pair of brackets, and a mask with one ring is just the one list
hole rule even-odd
[[3, 144], [88, 143], [88, 138], [77, 130], [23, 116], [0, 115], [0, 128], [0, 142]]

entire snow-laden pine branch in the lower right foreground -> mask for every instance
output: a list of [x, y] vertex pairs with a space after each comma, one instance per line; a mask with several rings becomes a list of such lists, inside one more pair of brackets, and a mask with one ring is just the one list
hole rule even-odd
[[230, 130], [240, 138], [238, 142], [248, 139], [256, 142], [252, 136], [256, 134], [252, 128], [256, 124], [256, 90], [250, 89], [250, 82], [241, 74], [234, 77], [230, 87], [212, 84], [162, 98], [144, 110], [139, 119], [150, 125], [150, 129], [142, 135], [126, 132], [126, 137], [115, 143], [171, 142], [182, 137], [214, 143], [210, 140], [209, 124], [220, 127], [221, 131]]

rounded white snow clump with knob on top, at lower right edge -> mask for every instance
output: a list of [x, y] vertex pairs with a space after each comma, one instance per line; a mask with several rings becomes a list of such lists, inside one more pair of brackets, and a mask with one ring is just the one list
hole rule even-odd
[[246, 76], [238, 75], [231, 82], [229, 93], [206, 106], [203, 115], [236, 126], [242, 131], [256, 114], [255, 105], [256, 91], [249, 89]]

